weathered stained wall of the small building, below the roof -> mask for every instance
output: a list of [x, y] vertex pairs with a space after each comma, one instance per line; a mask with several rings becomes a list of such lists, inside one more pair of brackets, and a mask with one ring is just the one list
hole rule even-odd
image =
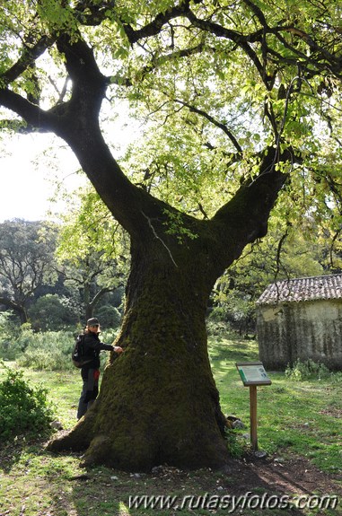
[[342, 300], [259, 306], [257, 333], [267, 369], [311, 358], [342, 370]]

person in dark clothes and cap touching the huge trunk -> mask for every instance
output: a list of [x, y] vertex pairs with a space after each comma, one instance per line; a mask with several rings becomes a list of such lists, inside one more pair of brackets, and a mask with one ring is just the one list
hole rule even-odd
[[100, 352], [102, 350], [114, 351], [118, 354], [123, 352], [122, 347], [118, 345], [104, 344], [101, 342], [99, 335], [99, 319], [95, 317], [88, 319], [87, 326], [84, 330], [83, 354], [87, 359], [89, 357], [89, 360], [84, 363], [81, 369], [83, 389], [78, 402], [77, 419], [81, 419], [99, 394]]

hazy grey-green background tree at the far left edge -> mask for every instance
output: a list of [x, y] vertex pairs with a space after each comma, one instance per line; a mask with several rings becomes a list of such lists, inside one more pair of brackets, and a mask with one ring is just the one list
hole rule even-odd
[[13, 310], [21, 323], [33, 294], [43, 284], [53, 284], [56, 232], [41, 223], [6, 221], [0, 224], [0, 303]]

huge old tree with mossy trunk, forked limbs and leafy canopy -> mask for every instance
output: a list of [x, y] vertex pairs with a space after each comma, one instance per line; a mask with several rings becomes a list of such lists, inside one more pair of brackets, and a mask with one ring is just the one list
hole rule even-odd
[[[226, 463], [206, 302], [266, 234], [279, 192], [294, 209], [300, 191], [320, 190], [323, 204], [338, 192], [340, 14], [331, 0], [1, 7], [0, 104], [15, 114], [3, 127], [62, 138], [131, 239], [126, 353], [50, 449], [135, 470]], [[120, 166], [102, 116], [122, 99], [146, 126]]]

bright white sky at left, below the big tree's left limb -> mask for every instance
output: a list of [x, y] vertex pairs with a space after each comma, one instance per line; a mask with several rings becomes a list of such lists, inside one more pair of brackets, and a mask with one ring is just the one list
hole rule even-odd
[[[63, 142], [52, 135], [3, 138], [0, 143], [0, 223], [13, 218], [46, 219], [49, 210], [56, 213], [64, 209], [65, 204], [57, 194], [58, 185], [68, 191], [82, 188], [86, 179], [75, 173], [80, 168], [75, 155], [62, 145]], [[51, 202], [51, 198], [55, 202]]]

